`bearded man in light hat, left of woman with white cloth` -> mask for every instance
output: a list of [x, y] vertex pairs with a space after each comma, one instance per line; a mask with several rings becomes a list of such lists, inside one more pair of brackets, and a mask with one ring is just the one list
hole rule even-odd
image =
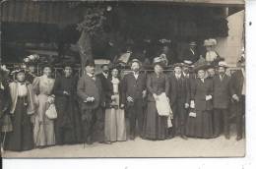
[[138, 120], [140, 137], [143, 137], [144, 99], [146, 97], [146, 75], [140, 73], [141, 62], [132, 60], [132, 73], [125, 75], [122, 85], [121, 108], [125, 107], [130, 121], [130, 139], [136, 136]]

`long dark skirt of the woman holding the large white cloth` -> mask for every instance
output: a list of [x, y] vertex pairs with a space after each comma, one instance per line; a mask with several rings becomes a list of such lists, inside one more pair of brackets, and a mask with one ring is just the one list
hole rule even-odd
[[144, 138], [149, 140], [166, 139], [167, 117], [159, 116], [156, 102], [148, 102], [144, 123]]

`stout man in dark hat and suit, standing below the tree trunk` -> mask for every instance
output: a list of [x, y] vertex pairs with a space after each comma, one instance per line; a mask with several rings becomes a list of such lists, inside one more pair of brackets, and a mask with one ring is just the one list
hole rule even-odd
[[101, 82], [95, 76], [95, 62], [88, 60], [85, 66], [86, 74], [78, 82], [77, 94], [80, 98], [84, 139], [92, 144], [94, 141], [104, 141], [104, 97]]

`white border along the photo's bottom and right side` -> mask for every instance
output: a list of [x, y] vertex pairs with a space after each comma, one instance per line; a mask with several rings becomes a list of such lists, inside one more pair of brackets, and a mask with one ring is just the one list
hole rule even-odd
[[[5, 169], [46, 168], [188, 168], [188, 169], [256, 169], [256, 0], [246, 2], [246, 60], [247, 60], [247, 102], [246, 102], [246, 157], [244, 158], [129, 158], [129, 159], [9, 159], [3, 160]], [[249, 22], [252, 23], [249, 26]]]

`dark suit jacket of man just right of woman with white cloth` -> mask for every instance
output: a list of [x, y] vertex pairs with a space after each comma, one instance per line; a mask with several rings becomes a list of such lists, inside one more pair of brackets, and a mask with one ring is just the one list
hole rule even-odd
[[169, 76], [169, 99], [170, 99], [170, 105], [172, 106], [177, 101], [178, 97], [183, 103], [189, 103], [189, 80], [186, 79], [183, 75], [181, 75], [180, 78], [180, 93], [178, 93], [178, 80], [175, 77], [175, 74], [171, 74]]

